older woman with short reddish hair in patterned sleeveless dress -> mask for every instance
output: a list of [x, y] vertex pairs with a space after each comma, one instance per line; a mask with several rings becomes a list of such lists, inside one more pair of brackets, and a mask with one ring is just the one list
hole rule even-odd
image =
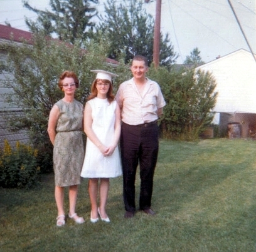
[[84, 219], [75, 213], [78, 184], [84, 158], [83, 144], [83, 104], [78, 102], [75, 91], [79, 81], [75, 73], [61, 74], [59, 88], [64, 98], [51, 108], [48, 121], [48, 134], [53, 144], [53, 169], [55, 173], [55, 200], [58, 209], [57, 226], [65, 225], [64, 193], [69, 186], [68, 216], [76, 223]]

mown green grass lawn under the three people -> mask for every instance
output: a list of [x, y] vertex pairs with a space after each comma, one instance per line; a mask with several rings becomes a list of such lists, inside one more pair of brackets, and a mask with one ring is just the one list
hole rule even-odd
[[[110, 180], [111, 223], [90, 223], [85, 179], [77, 203], [85, 223], [67, 219], [63, 228], [56, 226], [53, 174], [34, 189], [0, 189], [0, 251], [255, 252], [255, 150], [256, 141], [244, 139], [161, 140], [154, 217], [124, 219], [122, 178]], [[67, 195], [65, 202], [68, 213]]]

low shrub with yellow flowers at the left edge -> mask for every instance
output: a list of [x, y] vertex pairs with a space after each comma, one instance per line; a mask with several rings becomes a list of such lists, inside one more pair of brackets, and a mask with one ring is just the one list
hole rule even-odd
[[16, 142], [13, 150], [7, 140], [0, 149], [0, 186], [3, 188], [30, 188], [38, 181], [37, 149]]

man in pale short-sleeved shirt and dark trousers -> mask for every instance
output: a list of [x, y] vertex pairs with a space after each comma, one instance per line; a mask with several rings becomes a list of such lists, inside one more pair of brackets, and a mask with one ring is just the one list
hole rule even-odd
[[151, 209], [154, 169], [158, 154], [157, 119], [163, 114], [165, 101], [159, 85], [146, 78], [147, 59], [135, 56], [133, 78], [120, 84], [116, 100], [121, 109], [122, 130], [120, 149], [123, 169], [125, 218], [136, 211], [135, 179], [140, 167], [141, 191], [139, 209], [155, 214]]

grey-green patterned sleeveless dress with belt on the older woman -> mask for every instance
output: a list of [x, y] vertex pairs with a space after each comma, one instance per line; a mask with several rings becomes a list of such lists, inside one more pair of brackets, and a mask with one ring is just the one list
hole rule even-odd
[[83, 141], [83, 104], [75, 99], [55, 103], [60, 109], [53, 147], [53, 169], [56, 186], [80, 184], [85, 156]]

